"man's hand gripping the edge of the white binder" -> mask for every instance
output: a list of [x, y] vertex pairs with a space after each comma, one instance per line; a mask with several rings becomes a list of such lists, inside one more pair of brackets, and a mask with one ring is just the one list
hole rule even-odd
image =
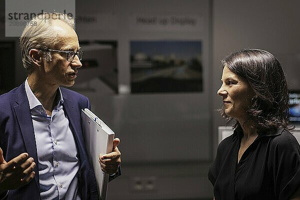
[[121, 163], [121, 152], [116, 147], [120, 143], [119, 138], [113, 139], [112, 152], [104, 155], [99, 155], [99, 163], [101, 170], [105, 173], [116, 173]]

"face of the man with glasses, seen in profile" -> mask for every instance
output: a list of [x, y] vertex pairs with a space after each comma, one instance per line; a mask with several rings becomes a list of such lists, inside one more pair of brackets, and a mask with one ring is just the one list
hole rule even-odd
[[[53, 21], [53, 28], [59, 32], [60, 42], [53, 49], [55, 50], [79, 50], [78, 37], [76, 32], [61, 20]], [[59, 86], [72, 86], [76, 78], [77, 68], [81, 67], [81, 62], [77, 55], [72, 61], [66, 60], [67, 53], [51, 51], [51, 61], [44, 62], [44, 79], [49, 84]]]

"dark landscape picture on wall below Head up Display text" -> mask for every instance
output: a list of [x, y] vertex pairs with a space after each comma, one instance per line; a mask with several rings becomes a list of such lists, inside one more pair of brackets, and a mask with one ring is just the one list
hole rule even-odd
[[201, 92], [201, 41], [130, 41], [131, 92]]

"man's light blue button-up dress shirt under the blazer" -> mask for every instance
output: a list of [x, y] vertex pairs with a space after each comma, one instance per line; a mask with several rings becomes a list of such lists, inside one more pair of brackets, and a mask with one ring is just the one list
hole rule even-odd
[[36, 141], [41, 199], [78, 200], [79, 159], [68, 118], [62, 109], [61, 91], [58, 88], [59, 101], [51, 116], [31, 91], [27, 79], [25, 91]]

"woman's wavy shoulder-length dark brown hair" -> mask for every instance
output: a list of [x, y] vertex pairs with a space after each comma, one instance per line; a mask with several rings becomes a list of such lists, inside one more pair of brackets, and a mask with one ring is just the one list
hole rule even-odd
[[[271, 131], [278, 127], [292, 129], [288, 117], [288, 89], [285, 74], [277, 58], [271, 53], [260, 49], [242, 49], [232, 53], [222, 60], [223, 66], [236, 75], [247, 80], [255, 95], [248, 107], [248, 118], [251, 126], [259, 132]], [[235, 122], [233, 127], [239, 127], [236, 119], [225, 114], [221, 115]]]

